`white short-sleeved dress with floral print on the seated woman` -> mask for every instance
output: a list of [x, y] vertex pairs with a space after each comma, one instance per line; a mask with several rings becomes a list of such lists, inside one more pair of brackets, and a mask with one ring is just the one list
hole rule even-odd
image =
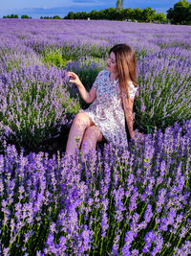
[[[85, 112], [101, 131], [104, 138], [114, 145], [128, 146], [125, 130], [125, 115], [119, 97], [119, 86], [117, 81], [110, 81], [110, 72], [102, 70], [98, 73], [93, 88], [96, 90], [95, 101]], [[134, 98], [138, 87], [133, 82], [129, 84], [129, 98]]]

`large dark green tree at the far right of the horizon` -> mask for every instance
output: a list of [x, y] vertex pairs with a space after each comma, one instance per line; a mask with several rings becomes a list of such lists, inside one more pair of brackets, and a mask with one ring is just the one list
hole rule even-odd
[[180, 0], [167, 11], [167, 18], [172, 24], [191, 24], [191, 3]]

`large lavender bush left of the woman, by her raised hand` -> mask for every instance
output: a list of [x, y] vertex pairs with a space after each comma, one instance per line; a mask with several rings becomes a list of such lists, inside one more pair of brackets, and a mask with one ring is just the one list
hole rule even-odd
[[[34, 150], [68, 123], [79, 109], [67, 91], [66, 72], [35, 66], [0, 77], [1, 139]], [[2, 141], [1, 141], [2, 142]]]

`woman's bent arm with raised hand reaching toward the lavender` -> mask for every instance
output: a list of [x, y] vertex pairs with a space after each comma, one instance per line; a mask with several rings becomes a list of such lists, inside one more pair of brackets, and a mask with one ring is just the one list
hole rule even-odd
[[74, 72], [68, 72], [68, 76], [72, 77], [71, 82], [74, 82], [79, 90], [81, 98], [87, 103], [91, 104], [96, 99], [96, 90], [92, 88], [90, 92], [86, 90], [82, 82], [79, 80], [78, 76]]

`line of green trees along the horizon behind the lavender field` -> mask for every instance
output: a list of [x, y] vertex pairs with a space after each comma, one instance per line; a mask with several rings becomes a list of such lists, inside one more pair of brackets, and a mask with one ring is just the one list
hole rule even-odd
[[[18, 18], [17, 14], [4, 16], [4, 18]], [[21, 18], [32, 18], [28, 15], [22, 15]], [[54, 15], [53, 17], [41, 16], [41, 19], [61, 19], [60, 16]], [[63, 19], [107, 19], [107, 20], [126, 20], [138, 22], [157, 22], [178, 24], [178, 25], [191, 25], [191, 3], [186, 0], [180, 0], [173, 8], [167, 11], [167, 15], [151, 7], [145, 9], [123, 9], [123, 1], [117, 0], [117, 8], [109, 8], [101, 11], [92, 12], [69, 12]]]

